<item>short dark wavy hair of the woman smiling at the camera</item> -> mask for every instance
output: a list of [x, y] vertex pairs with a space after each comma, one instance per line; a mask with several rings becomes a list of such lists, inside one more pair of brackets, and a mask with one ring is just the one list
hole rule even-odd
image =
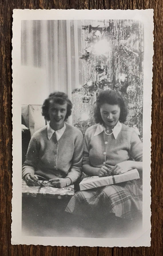
[[66, 113], [66, 116], [65, 116], [65, 120], [69, 116], [71, 116], [72, 103], [69, 100], [67, 94], [62, 93], [62, 92], [54, 92], [54, 93], [51, 93], [47, 99], [45, 99], [45, 101], [43, 102], [43, 105], [42, 105], [42, 116], [44, 116], [44, 118], [47, 121], [50, 120], [49, 106], [50, 106], [51, 102], [55, 102], [55, 103], [58, 103], [60, 105], [64, 105], [65, 103], [67, 103], [67, 113]]

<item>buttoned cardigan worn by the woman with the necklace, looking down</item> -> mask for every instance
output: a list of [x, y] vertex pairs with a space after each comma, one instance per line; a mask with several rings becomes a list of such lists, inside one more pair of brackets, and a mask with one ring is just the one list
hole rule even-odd
[[126, 160], [142, 161], [142, 142], [134, 128], [122, 124], [115, 138], [113, 133], [107, 135], [102, 131], [97, 134], [97, 127], [98, 124], [86, 130], [83, 165], [89, 164], [101, 168], [102, 165], [107, 164], [112, 168]]

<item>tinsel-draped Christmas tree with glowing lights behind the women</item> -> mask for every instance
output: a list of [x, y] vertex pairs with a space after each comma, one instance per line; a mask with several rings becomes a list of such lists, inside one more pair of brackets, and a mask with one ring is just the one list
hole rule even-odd
[[82, 26], [82, 76], [72, 92], [73, 125], [83, 134], [95, 124], [93, 108], [101, 90], [118, 91], [128, 107], [126, 124], [142, 138], [144, 31], [137, 20], [107, 20]]

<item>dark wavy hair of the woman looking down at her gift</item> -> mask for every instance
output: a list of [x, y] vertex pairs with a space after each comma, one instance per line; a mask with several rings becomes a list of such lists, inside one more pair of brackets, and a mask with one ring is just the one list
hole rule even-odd
[[122, 96], [114, 90], [101, 91], [97, 97], [96, 106], [94, 108], [94, 119], [96, 123], [104, 124], [102, 120], [100, 108], [104, 103], [110, 105], [118, 105], [120, 107], [120, 122], [124, 123], [127, 117], [127, 108]]

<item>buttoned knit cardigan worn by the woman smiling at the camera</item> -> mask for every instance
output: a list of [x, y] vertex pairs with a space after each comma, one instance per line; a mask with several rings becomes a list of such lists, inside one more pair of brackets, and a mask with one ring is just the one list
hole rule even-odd
[[69, 177], [72, 183], [81, 175], [83, 135], [67, 123], [57, 141], [47, 137], [47, 126], [35, 132], [30, 140], [27, 156], [22, 167], [22, 177], [37, 174], [46, 180]]

